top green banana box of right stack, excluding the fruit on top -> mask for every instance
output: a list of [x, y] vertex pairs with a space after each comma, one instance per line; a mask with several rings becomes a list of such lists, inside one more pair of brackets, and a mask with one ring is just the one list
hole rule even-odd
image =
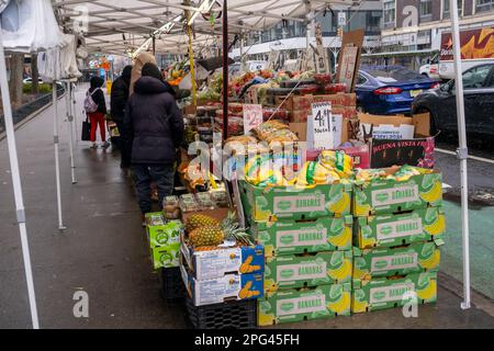
[[352, 214], [357, 217], [438, 207], [442, 205], [442, 177], [435, 171], [412, 176], [406, 181], [358, 181], [353, 192]]

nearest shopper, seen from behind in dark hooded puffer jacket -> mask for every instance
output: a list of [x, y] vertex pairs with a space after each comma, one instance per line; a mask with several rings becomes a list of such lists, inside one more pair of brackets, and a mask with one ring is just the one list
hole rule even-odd
[[150, 183], [158, 188], [158, 200], [173, 191], [176, 148], [183, 137], [183, 118], [173, 89], [162, 80], [159, 68], [145, 64], [142, 77], [125, 107], [126, 143], [141, 212], [151, 211]]

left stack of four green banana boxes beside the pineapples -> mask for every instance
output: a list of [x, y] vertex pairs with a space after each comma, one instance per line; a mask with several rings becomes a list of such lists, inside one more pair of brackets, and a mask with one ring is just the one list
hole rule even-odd
[[258, 325], [350, 314], [351, 184], [291, 190], [239, 182], [250, 234], [265, 247]]

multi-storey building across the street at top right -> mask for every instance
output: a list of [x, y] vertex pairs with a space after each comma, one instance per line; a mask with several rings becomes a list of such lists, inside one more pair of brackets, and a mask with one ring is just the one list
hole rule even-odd
[[[460, 30], [494, 26], [494, 0], [457, 0]], [[450, 0], [382, 0], [380, 48], [369, 57], [417, 69], [450, 32]]]

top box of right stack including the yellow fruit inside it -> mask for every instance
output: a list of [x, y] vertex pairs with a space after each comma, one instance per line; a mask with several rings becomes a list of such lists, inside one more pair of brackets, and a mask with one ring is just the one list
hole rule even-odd
[[438, 207], [442, 205], [442, 177], [409, 166], [361, 170], [353, 192], [352, 214], [358, 217]]

